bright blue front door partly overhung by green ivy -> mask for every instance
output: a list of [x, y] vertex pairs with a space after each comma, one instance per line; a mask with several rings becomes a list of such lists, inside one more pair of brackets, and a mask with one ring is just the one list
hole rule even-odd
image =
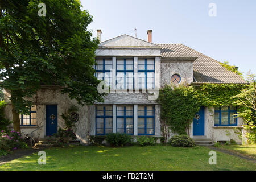
[[193, 119], [193, 135], [204, 135], [204, 106], [200, 107]]

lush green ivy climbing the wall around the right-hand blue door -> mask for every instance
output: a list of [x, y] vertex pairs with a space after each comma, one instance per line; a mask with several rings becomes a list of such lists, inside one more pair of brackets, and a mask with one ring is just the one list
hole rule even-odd
[[[237, 94], [247, 84], [166, 85], [159, 93], [162, 126], [178, 134], [186, 134], [200, 106], [236, 105]], [[166, 133], [166, 132], [165, 132]]]

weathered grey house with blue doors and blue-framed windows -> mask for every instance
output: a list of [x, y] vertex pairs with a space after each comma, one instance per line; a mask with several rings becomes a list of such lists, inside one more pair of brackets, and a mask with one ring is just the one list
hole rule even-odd
[[[101, 40], [101, 30], [97, 30], [97, 34]], [[64, 127], [61, 114], [77, 105], [79, 111], [72, 113], [72, 117], [77, 140], [81, 143], [87, 144], [90, 135], [111, 132], [160, 137], [161, 106], [156, 98], [158, 89], [165, 84], [245, 83], [240, 76], [203, 53], [183, 44], [154, 44], [152, 30], [148, 30], [147, 35], [147, 41], [121, 35], [98, 45], [96, 77], [111, 87], [104, 103], [79, 106], [76, 100], [61, 94], [59, 87], [44, 85], [31, 98], [35, 106], [31, 108], [30, 115], [20, 115], [22, 133], [34, 131], [39, 138], [56, 133], [59, 127]], [[6, 101], [9, 96], [5, 92]], [[5, 111], [11, 120], [11, 106], [8, 105]], [[195, 113], [188, 135], [213, 142], [233, 139], [242, 143], [234, 129], [244, 133], [243, 121], [242, 118], [234, 118], [234, 113], [236, 108], [232, 106], [202, 106]]]

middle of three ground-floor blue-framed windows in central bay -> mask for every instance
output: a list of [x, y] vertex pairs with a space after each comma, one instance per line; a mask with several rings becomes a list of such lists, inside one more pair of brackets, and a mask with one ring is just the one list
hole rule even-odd
[[117, 132], [133, 134], [133, 105], [117, 106]]

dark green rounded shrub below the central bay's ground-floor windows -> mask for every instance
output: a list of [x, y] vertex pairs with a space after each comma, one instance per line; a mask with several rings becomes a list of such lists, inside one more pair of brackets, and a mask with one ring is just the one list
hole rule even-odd
[[121, 133], [109, 133], [106, 135], [106, 141], [112, 146], [124, 146], [131, 144], [131, 135]]

